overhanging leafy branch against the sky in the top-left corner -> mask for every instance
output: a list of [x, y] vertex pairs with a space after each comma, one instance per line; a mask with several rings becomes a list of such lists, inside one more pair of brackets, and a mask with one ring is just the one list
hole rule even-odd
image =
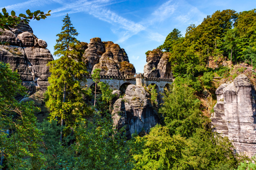
[[11, 11], [11, 15], [7, 13], [5, 8], [2, 8], [2, 13], [0, 13], [0, 28], [2, 30], [9, 30], [10, 28], [13, 28], [14, 26], [17, 26], [19, 23], [28, 23], [30, 19], [46, 19], [47, 16], [50, 15], [51, 11], [48, 11], [48, 13], [44, 13], [43, 11], [37, 10], [35, 12], [30, 12], [28, 9], [26, 11], [26, 14], [19, 14], [19, 16], [15, 16], [15, 11]]

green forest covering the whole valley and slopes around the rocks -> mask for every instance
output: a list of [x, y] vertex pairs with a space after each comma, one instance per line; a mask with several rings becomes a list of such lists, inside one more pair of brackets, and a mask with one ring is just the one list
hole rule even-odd
[[[33, 18], [45, 19], [50, 13], [27, 11], [15, 17], [14, 11], [10, 16], [5, 9], [2, 12], [2, 30]], [[163, 103], [156, 102], [154, 87], [145, 87], [161, 123], [148, 134], [132, 134], [129, 140], [125, 128], [113, 127], [115, 95], [108, 84], [99, 82], [99, 69], [92, 78], [101, 94], [96, 95], [96, 87], [81, 86], [87, 71], [77, 35], [66, 15], [54, 46], [58, 59], [48, 63], [50, 86], [44, 101], [50, 115], [41, 123], [34, 115], [39, 108], [33, 102], [16, 100], [26, 96], [20, 76], [0, 62], [0, 169], [256, 169], [254, 158], [235, 153], [228, 138], [213, 131], [210, 113], [214, 105], [209, 113], [200, 100], [206, 89], [216, 103], [219, 84], [213, 77], [234, 79], [239, 72], [235, 65], [240, 63], [256, 68], [256, 9], [216, 11], [200, 25], [188, 26], [184, 36], [176, 28], [169, 33], [156, 48], [170, 52], [175, 81], [162, 94]], [[223, 66], [223, 61], [230, 64]]]

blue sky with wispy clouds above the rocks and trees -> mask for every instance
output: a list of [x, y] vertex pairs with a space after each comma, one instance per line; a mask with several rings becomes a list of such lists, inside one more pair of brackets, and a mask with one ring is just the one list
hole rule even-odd
[[[190, 24], [196, 26], [217, 10], [237, 12], [256, 8], [256, 0], [0, 0], [0, 8], [10, 13], [49, 11], [45, 20], [31, 21], [34, 34], [54, 52], [56, 34], [68, 13], [78, 40], [89, 43], [93, 37], [113, 41], [124, 48], [136, 72], [143, 72], [145, 52], [163, 44], [174, 28], [185, 35]], [[56, 58], [56, 57], [54, 57]]]

